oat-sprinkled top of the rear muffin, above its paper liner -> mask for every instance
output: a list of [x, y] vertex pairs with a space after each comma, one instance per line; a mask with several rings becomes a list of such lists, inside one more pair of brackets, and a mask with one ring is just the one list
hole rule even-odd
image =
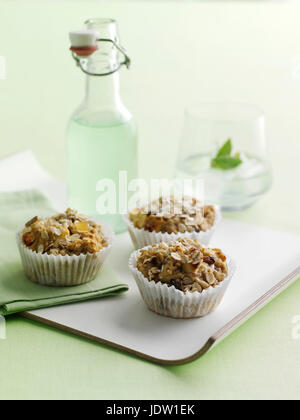
[[203, 206], [196, 198], [174, 197], [152, 201], [149, 205], [136, 208], [129, 213], [135, 228], [148, 232], [190, 233], [207, 232], [216, 220], [213, 206]]

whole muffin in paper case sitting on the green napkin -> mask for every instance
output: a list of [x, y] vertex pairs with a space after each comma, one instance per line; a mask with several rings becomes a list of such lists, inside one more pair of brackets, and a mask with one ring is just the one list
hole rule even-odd
[[40, 285], [76, 286], [94, 280], [108, 256], [113, 231], [67, 209], [31, 219], [17, 234], [26, 276]]

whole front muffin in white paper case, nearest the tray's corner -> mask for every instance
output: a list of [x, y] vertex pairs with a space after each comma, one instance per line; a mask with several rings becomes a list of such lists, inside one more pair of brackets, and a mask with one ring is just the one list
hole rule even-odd
[[220, 249], [187, 238], [135, 251], [129, 267], [148, 308], [172, 318], [211, 313], [235, 272], [233, 261]]

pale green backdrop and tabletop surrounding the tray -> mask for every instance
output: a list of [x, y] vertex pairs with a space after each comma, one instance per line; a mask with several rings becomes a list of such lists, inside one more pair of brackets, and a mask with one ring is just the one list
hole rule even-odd
[[[1, 155], [31, 148], [63, 176], [65, 122], [83, 87], [66, 32], [92, 15], [115, 16], [134, 58], [132, 70], [122, 72], [123, 96], [139, 120], [142, 174], [149, 176], [153, 162], [158, 176], [171, 173], [186, 104], [256, 103], [267, 115], [275, 184], [234, 217], [300, 233], [300, 79], [293, 72], [300, 55], [298, 5], [32, 4], [0, 4], [0, 55], [7, 57]], [[0, 398], [299, 398], [300, 340], [292, 339], [299, 297], [300, 282], [204, 358], [174, 368], [13, 317], [7, 340], [0, 341]]]

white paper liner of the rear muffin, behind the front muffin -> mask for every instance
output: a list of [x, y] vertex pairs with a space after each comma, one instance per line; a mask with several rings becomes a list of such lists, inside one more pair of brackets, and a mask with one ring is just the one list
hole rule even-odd
[[185, 232], [185, 233], [161, 233], [148, 232], [145, 229], [139, 229], [134, 226], [129, 218], [129, 215], [124, 215], [123, 219], [126, 223], [128, 232], [132, 239], [135, 249], [141, 249], [145, 246], [157, 244], [160, 242], [173, 242], [180, 238], [197, 239], [201, 244], [208, 245], [218, 224], [222, 220], [221, 210], [218, 206], [214, 206], [216, 211], [216, 218], [214, 225], [206, 232]]

